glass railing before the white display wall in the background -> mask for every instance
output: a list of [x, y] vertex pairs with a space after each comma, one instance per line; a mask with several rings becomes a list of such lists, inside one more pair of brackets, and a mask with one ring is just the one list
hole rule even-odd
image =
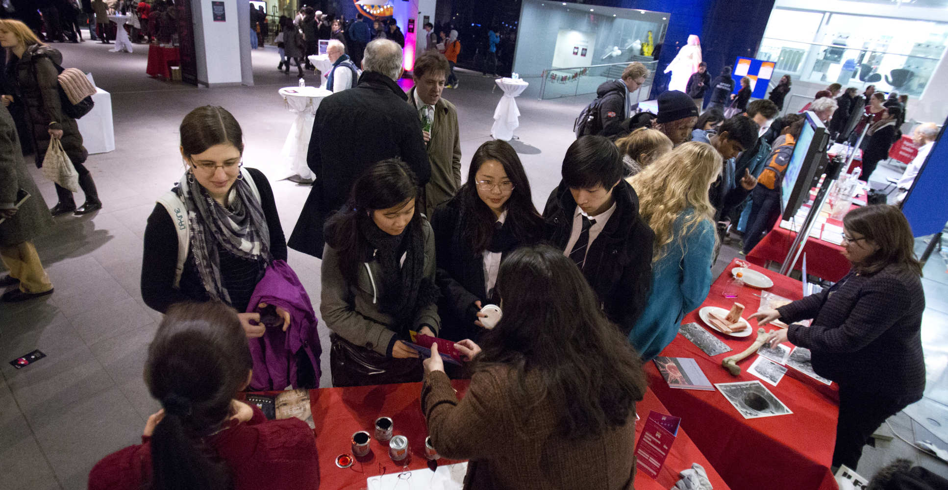
[[[622, 78], [622, 71], [629, 66], [629, 63], [638, 60], [630, 60], [623, 63], [611, 64], [593, 64], [590, 66], [573, 66], [569, 68], [550, 68], [543, 70], [540, 76], [539, 99], [558, 99], [561, 97], [574, 97], [585, 94], [594, 94], [596, 89], [603, 82], [610, 80], [619, 80]], [[658, 62], [653, 60], [640, 62], [648, 68], [648, 77], [646, 82], [639, 87], [633, 94], [629, 94], [632, 100], [638, 101], [648, 99], [648, 93], [651, 91], [652, 81], [655, 80], [655, 68]]]

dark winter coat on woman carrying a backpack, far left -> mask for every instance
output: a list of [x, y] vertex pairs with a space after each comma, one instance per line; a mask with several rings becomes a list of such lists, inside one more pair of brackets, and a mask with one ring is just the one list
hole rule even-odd
[[7, 83], [13, 98], [25, 107], [27, 136], [36, 150], [36, 166], [43, 166], [49, 146], [49, 129], [63, 130], [63, 149], [73, 163], [83, 163], [89, 155], [82, 147], [82, 135], [76, 119], [63, 113], [59, 95], [59, 72], [55, 64], [63, 63], [63, 55], [47, 45], [30, 45], [23, 58], [10, 55], [7, 61]]

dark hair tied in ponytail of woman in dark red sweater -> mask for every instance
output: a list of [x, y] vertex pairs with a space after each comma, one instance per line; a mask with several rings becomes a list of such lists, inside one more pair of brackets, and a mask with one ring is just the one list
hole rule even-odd
[[252, 367], [246, 335], [224, 303], [173, 305], [148, 349], [145, 383], [165, 409], [152, 435], [155, 490], [233, 488], [204, 438], [227, 426]]

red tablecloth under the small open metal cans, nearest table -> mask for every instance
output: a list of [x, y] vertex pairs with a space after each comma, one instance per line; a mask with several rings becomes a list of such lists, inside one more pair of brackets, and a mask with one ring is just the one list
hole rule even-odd
[[[452, 381], [459, 395], [464, 395], [466, 380]], [[366, 487], [366, 479], [372, 476], [401, 471], [401, 465], [395, 465], [389, 458], [388, 448], [372, 440], [373, 456], [365, 462], [354, 463], [350, 468], [336, 466], [339, 454], [351, 454], [350, 438], [358, 430], [373, 432], [374, 421], [378, 417], [392, 417], [394, 433], [409, 438], [409, 469], [423, 469], [428, 466], [425, 459], [425, 438], [428, 428], [421, 412], [421, 383], [401, 385], [379, 385], [372, 387], [323, 388], [310, 390], [310, 404], [313, 420], [316, 423], [316, 445], [319, 452], [319, 488], [356, 490]], [[641, 429], [649, 410], [671, 413], [658, 400], [651, 390], [645, 399], [636, 405], [636, 411], [642, 417], [636, 426]], [[638, 431], [636, 431], [636, 441]], [[445, 458], [439, 464], [458, 463]], [[635, 477], [636, 490], [663, 490], [674, 486], [678, 473], [699, 463], [707, 471], [708, 479], [715, 490], [727, 490], [728, 486], [714, 470], [702, 452], [691, 441], [684, 429], [679, 430], [678, 438], [672, 445], [671, 453], [665, 460], [665, 466], [658, 481], [639, 472]], [[785, 477], [784, 477], [785, 478]]]

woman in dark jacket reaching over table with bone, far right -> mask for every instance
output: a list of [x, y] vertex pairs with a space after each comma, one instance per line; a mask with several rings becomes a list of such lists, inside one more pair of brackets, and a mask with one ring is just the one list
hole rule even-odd
[[[902, 210], [853, 209], [843, 218], [849, 273], [826, 291], [747, 318], [791, 324], [776, 329], [771, 347], [789, 340], [810, 349], [813, 371], [839, 383], [833, 472], [842, 464], [856, 469], [872, 433], [925, 390], [925, 293], [913, 244]], [[809, 327], [795, 323], [806, 318]]]

